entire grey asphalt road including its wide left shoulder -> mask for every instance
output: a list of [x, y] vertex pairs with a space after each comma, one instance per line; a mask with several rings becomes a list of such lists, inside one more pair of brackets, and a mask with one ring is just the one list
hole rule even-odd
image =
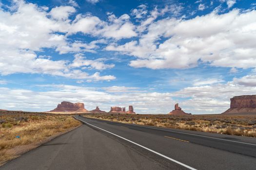
[[0, 170], [256, 169], [256, 138], [76, 119], [83, 125]]

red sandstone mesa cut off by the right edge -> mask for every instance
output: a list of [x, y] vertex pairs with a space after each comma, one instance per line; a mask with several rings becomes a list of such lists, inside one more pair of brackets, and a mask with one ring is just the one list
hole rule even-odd
[[230, 108], [222, 114], [256, 114], [256, 95], [243, 95], [231, 98]]

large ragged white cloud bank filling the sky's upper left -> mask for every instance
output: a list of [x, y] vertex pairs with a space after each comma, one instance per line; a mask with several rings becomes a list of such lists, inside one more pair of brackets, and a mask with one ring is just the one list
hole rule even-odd
[[[74, 26], [74, 23], [71, 24], [68, 19], [70, 14], [76, 11], [74, 7], [59, 6], [47, 13], [45, 7], [42, 8], [36, 4], [25, 3], [20, 0], [14, 3], [12, 10], [0, 10], [1, 75], [38, 73], [72, 79], [86, 79], [87, 81], [109, 81], [116, 78], [112, 75], [100, 76], [98, 72], [89, 75], [79, 69], [69, 67], [70, 61], [52, 60], [49, 56], [36, 55], [36, 52], [42, 51], [43, 48], [55, 49], [60, 54], [82, 51], [95, 52], [94, 49], [98, 48], [98, 43], [106, 43], [103, 39], [88, 44], [80, 41], [68, 42], [65, 34]], [[76, 19], [87, 18], [78, 15]], [[98, 19], [98, 21], [100, 20]], [[88, 60], [87, 66], [100, 70], [114, 67], [114, 65], [105, 65], [101, 60]]]

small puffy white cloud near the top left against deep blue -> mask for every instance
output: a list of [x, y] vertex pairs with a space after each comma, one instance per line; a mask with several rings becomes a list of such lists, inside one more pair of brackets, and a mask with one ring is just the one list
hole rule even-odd
[[66, 20], [71, 14], [75, 12], [76, 12], [76, 9], [73, 6], [58, 6], [58, 7], [52, 8], [52, 10], [50, 11], [50, 15], [54, 19]]

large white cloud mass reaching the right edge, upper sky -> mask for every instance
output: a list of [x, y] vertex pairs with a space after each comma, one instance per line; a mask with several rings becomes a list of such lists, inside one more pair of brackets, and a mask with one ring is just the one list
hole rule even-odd
[[151, 23], [138, 41], [110, 44], [106, 50], [138, 57], [130, 63], [136, 68], [193, 68], [198, 61], [216, 67], [252, 68], [256, 66], [255, 15], [255, 10], [235, 9], [192, 19], [164, 18]]

